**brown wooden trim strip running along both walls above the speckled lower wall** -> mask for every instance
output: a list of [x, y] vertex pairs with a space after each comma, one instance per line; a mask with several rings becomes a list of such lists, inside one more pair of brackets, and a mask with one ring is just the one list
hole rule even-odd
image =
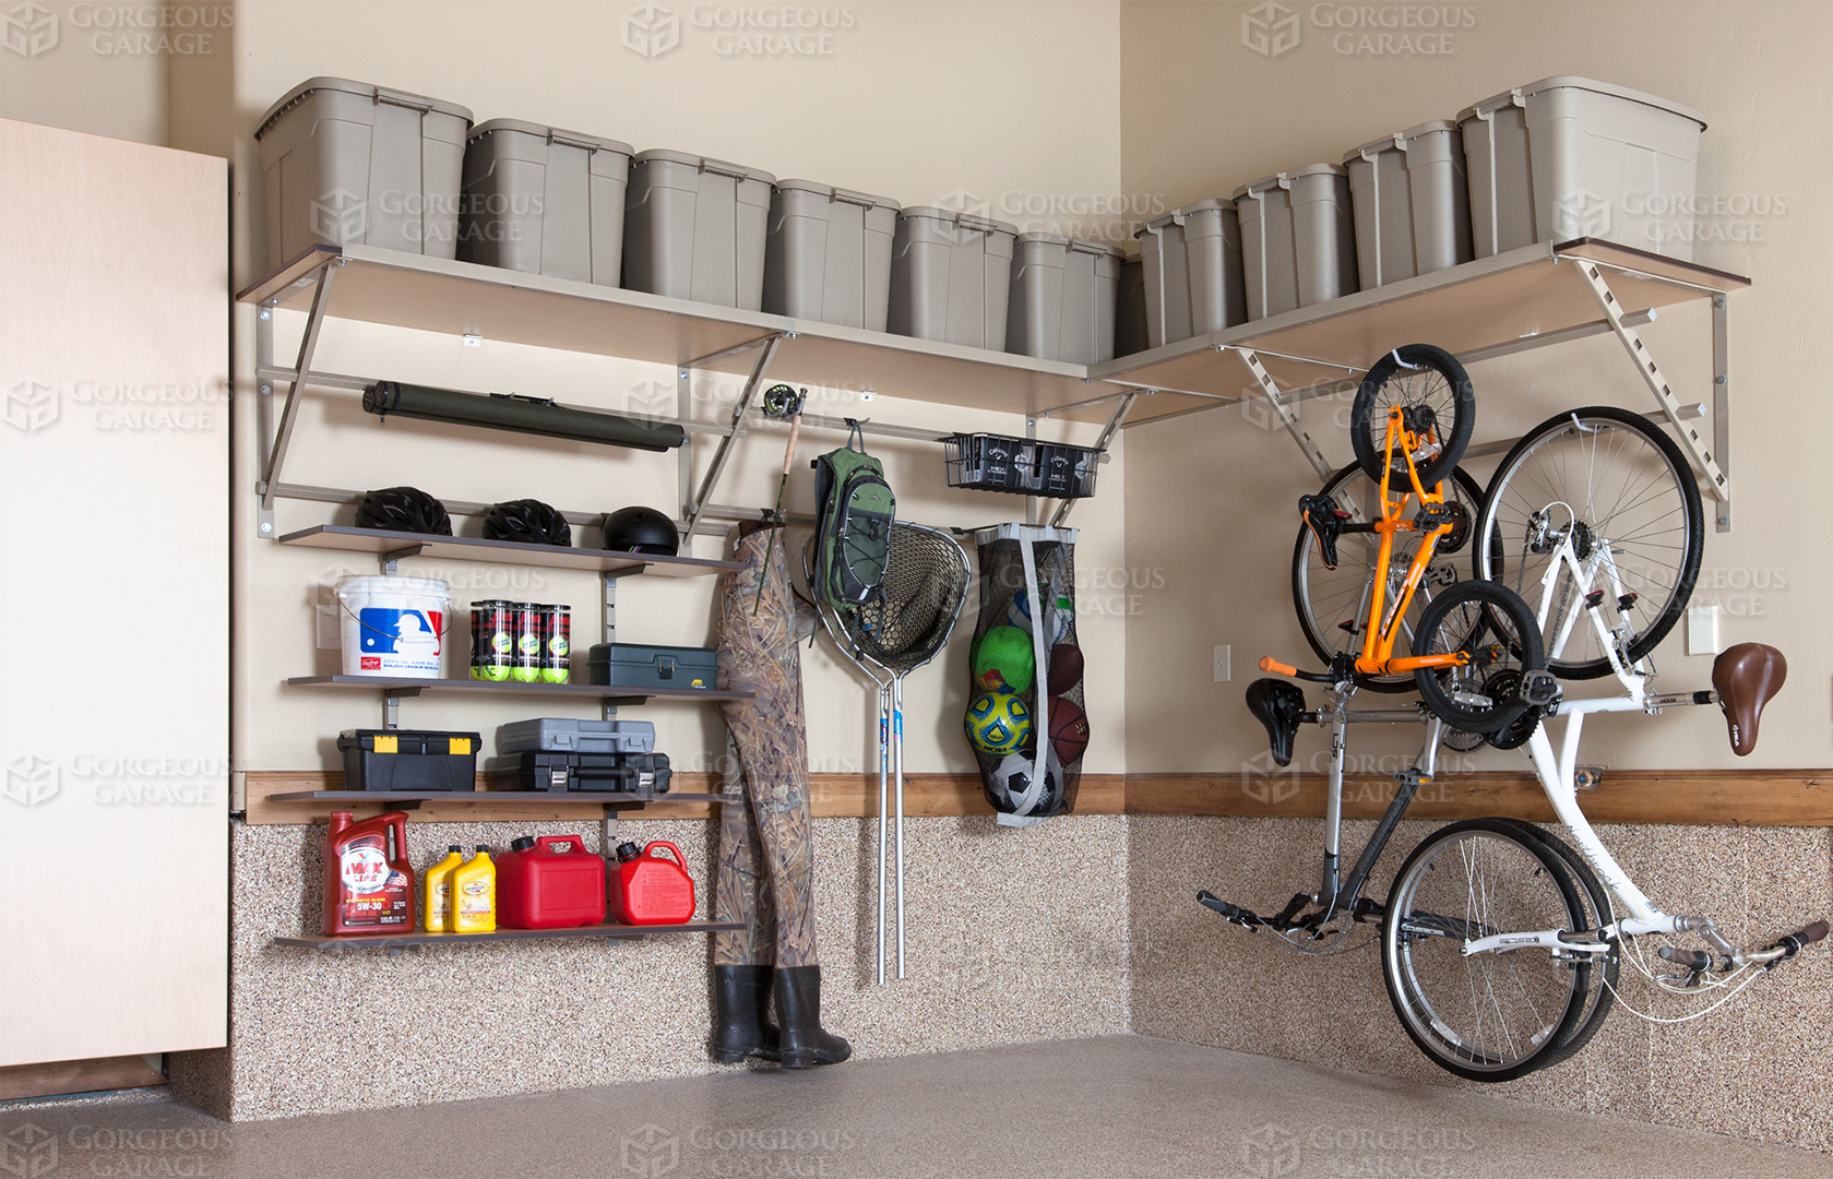
[[[878, 814], [876, 774], [814, 774], [810, 805], [816, 818]], [[271, 794], [339, 790], [343, 774], [319, 770], [247, 772], [249, 823], [324, 823], [332, 810], [379, 814], [381, 803], [273, 803]], [[482, 788], [482, 785], [480, 785]], [[676, 774], [684, 794], [720, 788], [711, 774]], [[1393, 799], [1395, 783], [1384, 774], [1353, 774], [1344, 781], [1344, 816], [1378, 818]], [[1083, 774], [1076, 814], [1191, 814], [1241, 818], [1322, 818], [1322, 774]], [[543, 803], [539, 796], [499, 796], [477, 803], [425, 803], [409, 810], [416, 823], [592, 821], [594, 807]], [[1833, 827], [1833, 770], [1606, 770], [1597, 790], [1580, 796], [1597, 823], [1679, 823], [1705, 827]], [[973, 774], [907, 774], [904, 812], [913, 818], [992, 814]], [[708, 803], [660, 803], [642, 818], [704, 820]], [[1532, 774], [1483, 772], [1441, 777], [1424, 787], [1410, 818], [1463, 820], [1501, 814], [1549, 821], [1553, 807]], [[634, 818], [634, 814], [632, 814]]]

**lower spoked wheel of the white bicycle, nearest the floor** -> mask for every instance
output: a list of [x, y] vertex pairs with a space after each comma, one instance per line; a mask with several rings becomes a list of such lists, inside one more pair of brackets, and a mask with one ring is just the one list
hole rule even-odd
[[1532, 1073], [1584, 1014], [1576, 974], [1543, 948], [1466, 955], [1465, 944], [1575, 930], [1584, 917], [1565, 860], [1542, 840], [1507, 820], [1441, 827], [1400, 865], [1382, 919], [1382, 977], [1400, 1027], [1446, 1073]]

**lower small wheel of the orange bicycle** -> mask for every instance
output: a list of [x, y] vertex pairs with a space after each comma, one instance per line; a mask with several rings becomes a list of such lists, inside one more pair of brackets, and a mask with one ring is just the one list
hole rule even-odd
[[[1413, 655], [1459, 651], [1470, 656], [1468, 664], [1413, 673], [1426, 708], [1466, 733], [1499, 733], [1521, 721], [1523, 673], [1545, 667], [1540, 627], [1527, 603], [1494, 581], [1459, 581], [1433, 598], [1419, 616]], [[1521, 741], [1531, 733], [1532, 728]]]

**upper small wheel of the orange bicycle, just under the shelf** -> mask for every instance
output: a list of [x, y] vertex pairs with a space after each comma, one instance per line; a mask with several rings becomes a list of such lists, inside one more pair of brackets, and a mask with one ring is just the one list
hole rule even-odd
[[[1388, 409], [1393, 405], [1406, 411], [1415, 433], [1433, 438], [1413, 453], [1419, 482], [1430, 488], [1457, 466], [1470, 444], [1477, 422], [1470, 376], [1455, 356], [1433, 345], [1402, 345], [1369, 367], [1349, 411], [1349, 442], [1375, 482], [1388, 462]], [[1395, 479], [1408, 486], [1406, 460], [1395, 458], [1393, 466]]]

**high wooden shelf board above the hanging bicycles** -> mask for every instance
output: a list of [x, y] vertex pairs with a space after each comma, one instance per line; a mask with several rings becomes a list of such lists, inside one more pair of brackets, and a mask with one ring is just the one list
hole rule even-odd
[[[1628, 246], [1589, 238], [1543, 242], [1182, 339], [1151, 352], [1124, 356], [1094, 365], [1089, 372], [1102, 381], [1184, 389], [1239, 400], [1257, 392], [1241, 358], [1217, 352], [1223, 345], [1309, 356], [1344, 367], [1333, 370], [1263, 354], [1268, 372], [1281, 389], [1290, 391], [1333, 378], [1360, 378], [1384, 352], [1406, 343], [1433, 343], [1463, 356], [1567, 328], [1602, 325], [1604, 315], [1575, 270], [1578, 260], [1650, 275], [1606, 271], [1624, 312], [1664, 308], [1749, 286], [1749, 279], [1740, 275], [1675, 262]], [[1127, 422], [1136, 425], [1179, 413], [1191, 402], [1193, 398], [1164, 392], [1140, 398]]]

